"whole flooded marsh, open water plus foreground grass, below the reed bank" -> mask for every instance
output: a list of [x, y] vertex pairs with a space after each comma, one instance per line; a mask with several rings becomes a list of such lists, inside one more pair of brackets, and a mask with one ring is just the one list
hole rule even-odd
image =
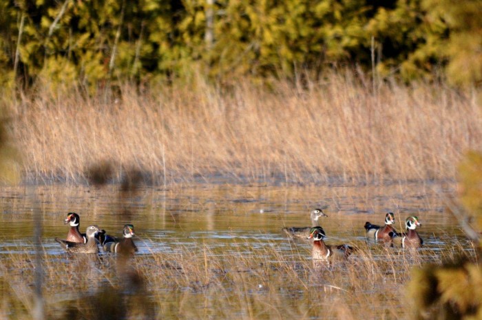
[[[72, 314], [97, 319], [98, 310], [114, 309], [118, 317], [140, 319], [404, 319], [410, 315], [404, 285], [411, 268], [474, 254], [445, 212], [452, 188], [201, 183], [143, 186], [127, 194], [116, 184], [3, 188], [2, 315], [31, 317], [32, 239], [39, 214], [42, 292], [51, 319]], [[346, 263], [313, 268], [311, 243], [282, 232], [286, 226], [309, 226], [317, 207], [328, 215], [319, 221], [327, 243], [360, 248]], [[120, 237], [125, 223], [132, 223], [138, 252], [129, 259], [66, 254], [54, 237], [67, 234], [63, 222], [70, 211], [81, 217], [81, 230], [96, 224]], [[423, 248], [414, 254], [366, 242], [365, 221], [381, 223], [388, 211], [395, 212], [398, 230], [417, 214]]]

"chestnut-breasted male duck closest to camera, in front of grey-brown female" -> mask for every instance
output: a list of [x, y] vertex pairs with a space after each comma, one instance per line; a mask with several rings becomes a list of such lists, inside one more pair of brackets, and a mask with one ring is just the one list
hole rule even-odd
[[346, 259], [355, 251], [355, 248], [347, 244], [326, 246], [323, 239], [326, 238], [322, 227], [314, 227], [310, 229], [308, 239], [313, 239], [313, 250], [311, 250], [311, 257], [313, 261], [316, 260], [331, 260], [331, 259]]

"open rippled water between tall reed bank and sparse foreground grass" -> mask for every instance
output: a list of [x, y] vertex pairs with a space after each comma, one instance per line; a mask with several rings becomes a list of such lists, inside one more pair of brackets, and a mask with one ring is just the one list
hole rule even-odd
[[[442, 254], [454, 243], [470, 251], [469, 241], [446, 210], [453, 188], [450, 183], [388, 186], [200, 183], [174, 188], [145, 186], [127, 192], [116, 185], [3, 188], [0, 254], [14, 257], [34, 252], [34, 226], [36, 221], [41, 221], [44, 254], [64, 257], [54, 237], [65, 237], [68, 227], [63, 221], [67, 212], [77, 212], [81, 217], [81, 232], [96, 224], [120, 237], [123, 225], [132, 223], [136, 232], [134, 241], [139, 248], [134, 259], [145, 259], [156, 252], [169, 257], [182, 250], [205, 250], [220, 259], [233, 254], [256, 256], [264, 254], [264, 248], [269, 247], [286, 257], [295, 254], [297, 259], [309, 260], [311, 244], [304, 241], [293, 244], [281, 229], [309, 226], [309, 212], [313, 208], [322, 208], [328, 215], [319, 221], [328, 236], [327, 243], [362, 243], [366, 221], [383, 224], [384, 214], [395, 212], [398, 230], [404, 230], [404, 221], [409, 215], [419, 217], [422, 227], [418, 231], [424, 240], [424, 247], [419, 250], [422, 257], [429, 251], [432, 255], [433, 252]], [[293, 250], [293, 246], [297, 250]], [[69, 263], [63, 259], [55, 261]], [[8, 277], [5, 271], [2, 275], [5, 279]], [[169, 297], [173, 301], [169, 302]], [[163, 299], [167, 300], [165, 303], [176, 303], [178, 298], [166, 293]], [[287, 304], [297, 303], [297, 296], [290, 292], [280, 292], [280, 299]], [[249, 318], [247, 314], [238, 315]]]

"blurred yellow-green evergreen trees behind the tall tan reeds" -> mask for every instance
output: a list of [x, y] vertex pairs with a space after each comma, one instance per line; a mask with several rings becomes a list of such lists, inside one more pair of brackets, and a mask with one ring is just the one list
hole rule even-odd
[[360, 68], [482, 80], [479, 0], [0, 1], [0, 83], [98, 90]]

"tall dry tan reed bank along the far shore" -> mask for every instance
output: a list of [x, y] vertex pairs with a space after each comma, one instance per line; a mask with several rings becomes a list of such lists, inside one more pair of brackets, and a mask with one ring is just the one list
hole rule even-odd
[[10, 106], [25, 177], [37, 182], [83, 182], [98, 163], [114, 181], [135, 170], [156, 183], [453, 179], [463, 153], [482, 149], [476, 92], [373, 90], [349, 72], [269, 89], [126, 85], [108, 99], [41, 88]]

